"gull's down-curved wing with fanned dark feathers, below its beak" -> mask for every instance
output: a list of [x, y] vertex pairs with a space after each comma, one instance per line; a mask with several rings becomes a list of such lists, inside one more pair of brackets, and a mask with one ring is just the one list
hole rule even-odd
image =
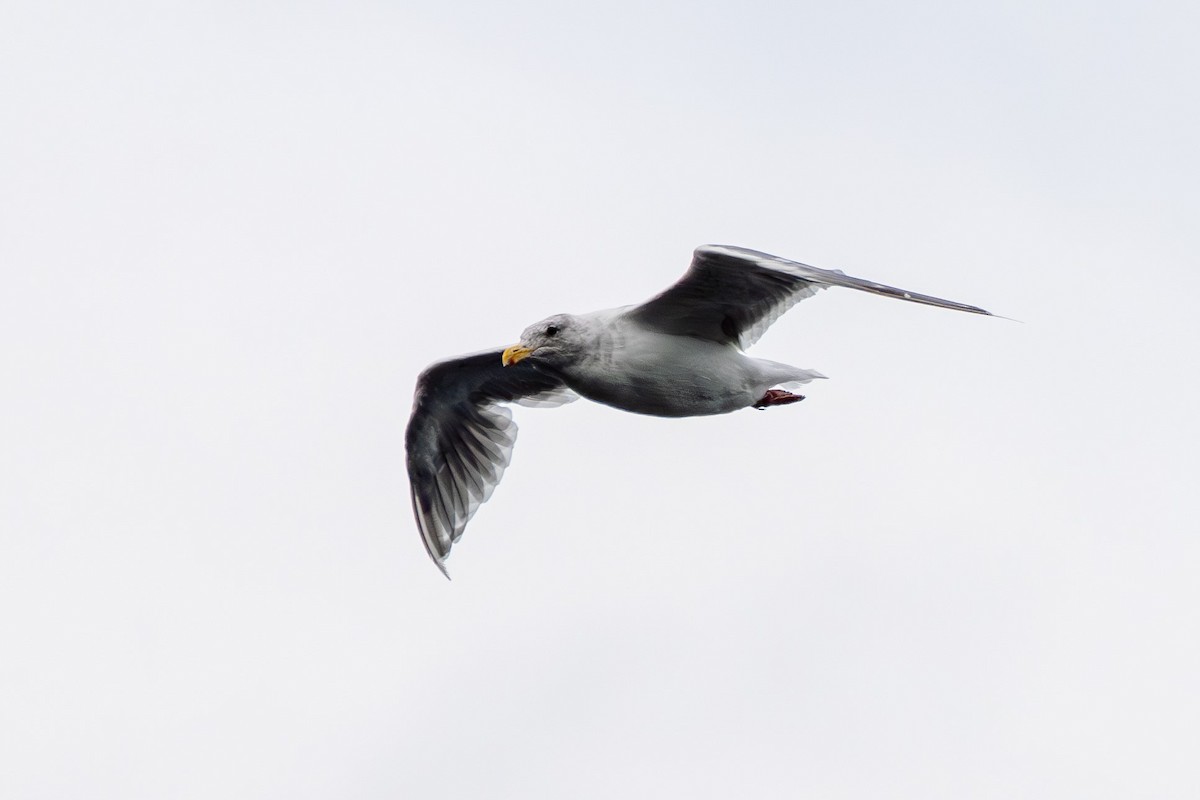
[[450, 548], [512, 455], [517, 426], [502, 403], [559, 405], [577, 397], [529, 362], [503, 366], [500, 354], [439, 361], [416, 379], [404, 435], [408, 483], [425, 549], [446, 577]]

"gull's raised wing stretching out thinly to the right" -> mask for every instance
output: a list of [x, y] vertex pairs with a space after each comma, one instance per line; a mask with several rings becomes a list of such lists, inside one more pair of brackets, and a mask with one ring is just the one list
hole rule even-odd
[[853, 278], [840, 270], [821, 270], [744, 247], [704, 245], [696, 248], [691, 266], [678, 283], [626, 314], [665, 333], [745, 349], [785, 311], [826, 287], [848, 287], [972, 314], [989, 313], [953, 300]]

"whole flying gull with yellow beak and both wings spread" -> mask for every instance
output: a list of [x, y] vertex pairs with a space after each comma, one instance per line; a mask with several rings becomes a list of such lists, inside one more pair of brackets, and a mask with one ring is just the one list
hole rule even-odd
[[550, 407], [578, 397], [654, 416], [703, 416], [804, 399], [820, 372], [743, 350], [788, 308], [827, 287], [989, 314], [778, 255], [696, 248], [672, 287], [640, 306], [556, 314], [509, 348], [438, 361], [416, 379], [406, 432], [413, 513], [430, 558], [445, 560], [509, 465], [517, 426], [506, 403]]

